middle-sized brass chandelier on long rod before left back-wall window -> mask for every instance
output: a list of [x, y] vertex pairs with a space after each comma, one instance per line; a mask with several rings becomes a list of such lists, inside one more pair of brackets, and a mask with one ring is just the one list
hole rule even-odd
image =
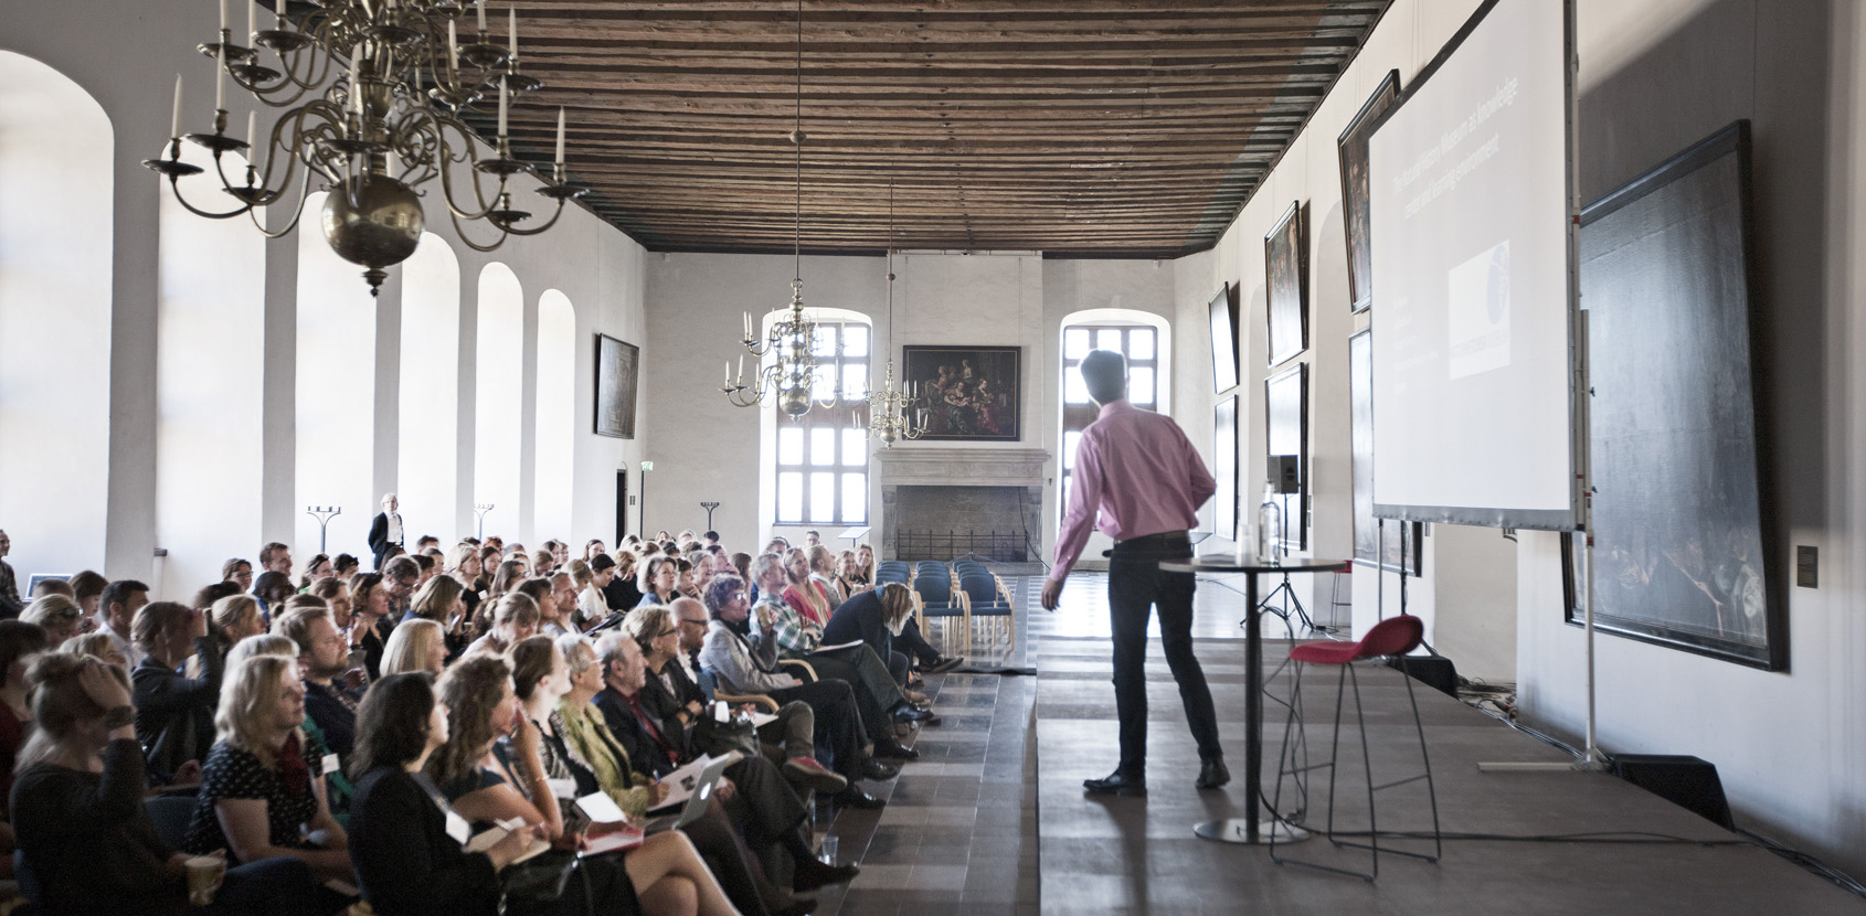
[[[815, 362], [815, 341], [817, 326], [815, 321], [804, 312], [804, 4], [797, 0], [797, 127], [791, 131], [791, 142], [797, 144], [797, 229], [791, 243], [791, 261], [795, 267], [795, 276], [791, 280], [791, 310], [787, 315], [771, 325], [771, 330], [759, 340], [752, 328], [752, 315], [745, 315], [745, 336], [741, 343], [745, 351], [759, 360], [759, 368], [752, 373], [750, 384], [745, 379], [745, 356], [739, 356], [739, 373], [731, 373], [731, 362], [726, 364], [726, 386], [720, 392], [731, 401], [733, 407], [756, 407], [765, 403], [771, 396], [778, 403], [778, 410], [787, 416], [802, 416], [810, 412], [814, 397], [810, 396], [812, 386], [817, 379]], [[836, 343], [842, 349], [842, 343]], [[765, 362], [771, 356], [771, 362]], [[838, 384], [830, 392], [823, 407], [834, 407], [842, 397], [842, 386]]]

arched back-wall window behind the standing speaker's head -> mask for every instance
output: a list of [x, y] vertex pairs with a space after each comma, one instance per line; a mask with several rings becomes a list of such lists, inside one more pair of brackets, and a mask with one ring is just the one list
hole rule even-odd
[[1166, 412], [1172, 397], [1168, 354], [1172, 326], [1164, 317], [1127, 308], [1095, 308], [1064, 317], [1062, 323], [1062, 478], [1056, 515], [1069, 513], [1069, 479], [1075, 474], [1075, 448], [1082, 431], [1095, 422], [1101, 407], [1082, 382], [1082, 356], [1114, 351], [1127, 356], [1127, 403]]

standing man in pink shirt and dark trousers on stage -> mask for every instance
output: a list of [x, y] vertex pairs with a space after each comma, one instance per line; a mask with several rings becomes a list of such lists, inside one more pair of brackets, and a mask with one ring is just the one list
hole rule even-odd
[[1121, 761], [1112, 774], [1086, 780], [1101, 795], [1146, 795], [1148, 765], [1148, 618], [1161, 612], [1161, 647], [1179, 683], [1185, 722], [1198, 741], [1198, 785], [1232, 780], [1218, 748], [1218, 716], [1205, 672], [1192, 657], [1192, 573], [1166, 573], [1161, 560], [1192, 556], [1187, 530], [1218, 485], [1172, 418], [1127, 403], [1127, 360], [1093, 351], [1082, 358], [1088, 396], [1101, 416], [1075, 451], [1069, 513], [1056, 532], [1056, 562], [1043, 582], [1043, 608], [1056, 610], [1062, 582], [1088, 543], [1095, 513], [1114, 537], [1108, 552], [1108, 618], [1114, 629], [1114, 709], [1121, 720]]

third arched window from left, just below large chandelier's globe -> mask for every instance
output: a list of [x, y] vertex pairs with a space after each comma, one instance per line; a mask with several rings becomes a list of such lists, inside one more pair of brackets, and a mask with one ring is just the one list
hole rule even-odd
[[[340, 506], [327, 550], [368, 558], [379, 493], [375, 466], [375, 300], [356, 267], [330, 250], [315, 215], [325, 194], [304, 203], [299, 226], [297, 377], [297, 569], [319, 548], [308, 506]], [[258, 550], [254, 545], [252, 550]], [[244, 556], [244, 554], [241, 554]]]

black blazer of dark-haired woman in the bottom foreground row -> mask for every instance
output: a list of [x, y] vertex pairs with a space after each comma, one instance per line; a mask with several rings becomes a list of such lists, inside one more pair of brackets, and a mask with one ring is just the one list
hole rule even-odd
[[349, 854], [362, 899], [383, 916], [496, 916], [493, 860], [448, 836], [435, 795], [401, 767], [379, 767], [356, 780]]

